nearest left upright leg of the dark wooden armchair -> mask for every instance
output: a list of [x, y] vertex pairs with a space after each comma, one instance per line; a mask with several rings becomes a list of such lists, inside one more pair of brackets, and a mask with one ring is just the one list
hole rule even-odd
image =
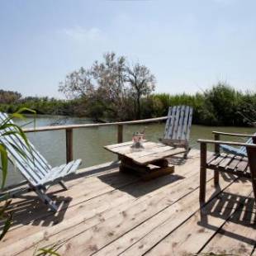
[[206, 143], [200, 143], [200, 191], [199, 201], [204, 203], [206, 201]]

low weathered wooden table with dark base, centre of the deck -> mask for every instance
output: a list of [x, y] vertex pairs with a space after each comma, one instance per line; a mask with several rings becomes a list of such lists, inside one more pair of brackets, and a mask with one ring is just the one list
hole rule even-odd
[[134, 171], [144, 179], [150, 179], [174, 172], [174, 166], [165, 159], [175, 154], [182, 154], [186, 150], [173, 148], [169, 145], [149, 140], [143, 142], [143, 149], [131, 148], [132, 141], [107, 145], [104, 148], [117, 154], [121, 160], [121, 171]]

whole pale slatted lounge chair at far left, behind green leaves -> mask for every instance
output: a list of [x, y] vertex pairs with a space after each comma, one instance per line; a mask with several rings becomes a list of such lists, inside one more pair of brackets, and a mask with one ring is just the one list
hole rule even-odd
[[[6, 119], [7, 114], [0, 112], [0, 122]], [[13, 128], [7, 128], [1, 130], [1, 133], [12, 130]], [[0, 136], [0, 143], [6, 146], [8, 158], [17, 166], [22, 176], [26, 178], [29, 188], [36, 192], [40, 200], [50, 207], [50, 210], [57, 211], [58, 207], [46, 195], [46, 190], [55, 183], [59, 183], [61, 187], [67, 190], [63, 178], [75, 173], [81, 164], [81, 159], [52, 168], [30, 142], [29, 146], [26, 144], [21, 135]]]

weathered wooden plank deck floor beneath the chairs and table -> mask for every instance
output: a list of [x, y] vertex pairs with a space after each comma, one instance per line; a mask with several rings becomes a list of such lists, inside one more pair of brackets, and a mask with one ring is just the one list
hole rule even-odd
[[40, 248], [60, 255], [256, 255], [256, 211], [251, 183], [230, 175], [210, 201], [198, 203], [199, 151], [175, 173], [143, 182], [116, 165], [80, 170], [68, 191], [50, 188], [59, 211], [47, 211], [33, 192], [12, 201], [14, 223], [0, 242], [0, 255], [33, 255]]

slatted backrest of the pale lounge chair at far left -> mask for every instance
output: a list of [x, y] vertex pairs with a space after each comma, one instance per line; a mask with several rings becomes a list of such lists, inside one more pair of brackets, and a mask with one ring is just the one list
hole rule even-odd
[[[5, 121], [7, 114], [0, 112], [0, 121]], [[12, 122], [12, 121], [9, 121]], [[13, 122], [12, 122], [13, 123]], [[1, 130], [1, 134], [12, 131], [14, 128], [8, 127]], [[45, 178], [45, 175], [50, 172], [50, 164], [45, 158], [35, 149], [29, 142], [29, 147], [23, 140], [21, 135], [4, 135], [0, 136], [0, 142], [7, 147], [8, 156], [11, 161], [20, 169], [25, 178], [34, 186], [40, 184], [40, 181]], [[17, 149], [20, 149], [25, 155], [20, 154]], [[11, 157], [10, 157], [11, 156]]]

